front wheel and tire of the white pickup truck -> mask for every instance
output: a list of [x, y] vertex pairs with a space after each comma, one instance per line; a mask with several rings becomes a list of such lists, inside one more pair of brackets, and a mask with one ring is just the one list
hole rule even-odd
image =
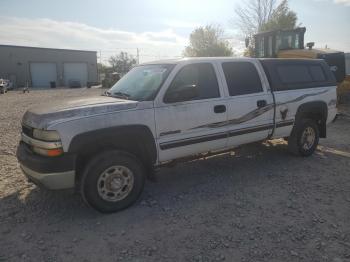
[[105, 151], [89, 161], [81, 181], [81, 194], [94, 209], [113, 213], [135, 203], [144, 184], [145, 170], [136, 157], [121, 151]]

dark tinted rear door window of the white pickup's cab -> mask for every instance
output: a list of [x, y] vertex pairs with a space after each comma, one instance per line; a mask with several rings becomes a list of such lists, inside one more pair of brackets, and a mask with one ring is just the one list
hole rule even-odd
[[222, 64], [230, 96], [260, 93], [261, 80], [255, 66], [250, 62], [227, 62]]

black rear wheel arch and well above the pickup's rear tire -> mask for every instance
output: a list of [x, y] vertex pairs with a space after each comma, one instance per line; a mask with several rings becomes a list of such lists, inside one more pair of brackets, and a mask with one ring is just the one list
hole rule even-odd
[[302, 104], [297, 111], [296, 121], [301, 119], [313, 119], [316, 121], [318, 130], [320, 131], [320, 137], [326, 138], [327, 136], [327, 117], [328, 107], [325, 102], [315, 101]]

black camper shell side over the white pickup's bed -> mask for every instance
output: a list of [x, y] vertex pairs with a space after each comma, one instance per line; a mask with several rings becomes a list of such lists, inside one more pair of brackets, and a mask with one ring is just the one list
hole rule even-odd
[[274, 91], [335, 86], [336, 81], [323, 60], [262, 59]]

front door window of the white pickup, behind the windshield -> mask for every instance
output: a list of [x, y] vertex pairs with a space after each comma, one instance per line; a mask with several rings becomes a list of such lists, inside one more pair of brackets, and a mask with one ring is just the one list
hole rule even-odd
[[167, 90], [164, 102], [175, 103], [220, 97], [213, 65], [199, 63], [184, 66]]

